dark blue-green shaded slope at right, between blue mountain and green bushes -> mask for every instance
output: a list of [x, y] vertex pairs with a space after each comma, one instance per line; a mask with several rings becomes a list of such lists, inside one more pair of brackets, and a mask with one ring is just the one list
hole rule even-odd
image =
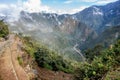
[[100, 44], [108, 47], [120, 38], [120, 26], [114, 26], [106, 29], [98, 35], [95, 39], [88, 39], [85, 43], [81, 44], [81, 49], [93, 48], [95, 45]]

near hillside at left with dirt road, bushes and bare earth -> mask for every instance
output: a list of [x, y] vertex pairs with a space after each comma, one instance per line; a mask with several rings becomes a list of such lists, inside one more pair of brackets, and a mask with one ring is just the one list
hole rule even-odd
[[7, 35], [0, 41], [0, 80], [73, 79], [72, 62], [29, 37]]

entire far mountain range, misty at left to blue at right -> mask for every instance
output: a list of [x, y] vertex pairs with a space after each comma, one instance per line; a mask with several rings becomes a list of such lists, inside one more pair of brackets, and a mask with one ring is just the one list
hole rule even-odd
[[[91, 6], [73, 15], [22, 11], [18, 21], [8, 22], [9, 29], [17, 34], [31, 36], [62, 54], [68, 53], [67, 57], [74, 56], [76, 52], [72, 48], [76, 43], [81, 45], [93, 40], [107, 28], [120, 24], [119, 3]], [[115, 10], [115, 16], [109, 17], [111, 13], [104, 11], [109, 5], [113, 6], [107, 12]]]

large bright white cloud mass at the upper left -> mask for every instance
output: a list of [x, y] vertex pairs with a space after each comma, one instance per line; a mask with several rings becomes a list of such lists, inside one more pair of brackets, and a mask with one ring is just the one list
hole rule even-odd
[[0, 16], [9, 18], [14, 21], [19, 18], [21, 11], [33, 12], [53, 12], [48, 6], [42, 5], [41, 0], [19, 0], [17, 4], [0, 4]]

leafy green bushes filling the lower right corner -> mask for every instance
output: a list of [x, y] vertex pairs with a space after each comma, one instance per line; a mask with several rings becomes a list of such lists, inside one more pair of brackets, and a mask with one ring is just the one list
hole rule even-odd
[[[90, 63], [83, 63], [76, 70], [75, 80], [106, 79], [108, 72], [120, 67], [120, 40], [111, 48], [100, 51]], [[113, 80], [119, 80], [120, 77]]]

